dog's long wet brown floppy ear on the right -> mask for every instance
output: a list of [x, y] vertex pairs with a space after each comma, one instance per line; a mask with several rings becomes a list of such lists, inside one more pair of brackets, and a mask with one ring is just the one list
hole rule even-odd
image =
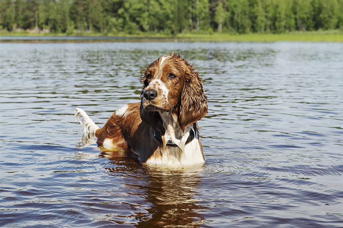
[[182, 131], [192, 123], [197, 122], [207, 114], [207, 97], [202, 89], [202, 80], [198, 71], [191, 70], [185, 77], [179, 108], [179, 124]]

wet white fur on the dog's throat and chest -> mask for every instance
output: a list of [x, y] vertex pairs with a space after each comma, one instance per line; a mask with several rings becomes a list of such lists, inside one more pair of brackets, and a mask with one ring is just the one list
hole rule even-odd
[[[177, 116], [168, 112], [160, 113], [163, 126], [166, 129], [164, 134], [165, 142], [172, 140], [178, 147], [162, 146], [161, 155], [153, 155], [146, 164], [162, 166], [186, 166], [202, 164], [205, 162], [199, 140], [199, 134], [193, 125], [190, 124], [182, 132]], [[194, 139], [186, 144], [190, 131], [196, 132]]]

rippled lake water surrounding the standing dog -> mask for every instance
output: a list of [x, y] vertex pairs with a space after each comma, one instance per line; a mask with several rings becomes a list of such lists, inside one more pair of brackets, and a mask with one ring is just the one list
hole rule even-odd
[[[82, 140], [177, 50], [199, 69], [206, 162], [160, 169]], [[341, 227], [343, 43], [0, 43], [0, 226]]]

